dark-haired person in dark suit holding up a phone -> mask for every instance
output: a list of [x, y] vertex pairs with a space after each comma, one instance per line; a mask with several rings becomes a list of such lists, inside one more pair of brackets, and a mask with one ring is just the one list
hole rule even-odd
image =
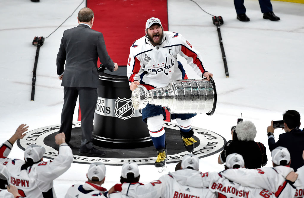
[[[295, 171], [304, 165], [304, 160], [301, 158], [304, 150], [304, 133], [299, 129], [300, 118], [299, 112], [288, 110], [283, 114], [283, 120], [271, 121], [271, 125], [267, 128], [269, 150], [272, 151], [278, 146], [287, 148], [291, 158], [290, 167]], [[281, 128], [287, 132], [280, 134], [277, 142], [273, 134], [275, 128]]]

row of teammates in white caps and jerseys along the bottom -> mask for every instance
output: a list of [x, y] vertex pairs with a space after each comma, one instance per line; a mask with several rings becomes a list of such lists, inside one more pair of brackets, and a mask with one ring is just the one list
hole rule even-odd
[[[25, 136], [26, 124], [20, 125], [12, 137], [0, 147], [0, 198], [56, 197], [53, 180], [63, 174], [73, 162], [71, 148], [65, 143], [64, 133], [55, 136], [59, 154], [53, 161], [43, 161], [45, 148], [29, 145], [24, 160], [8, 158], [13, 144]], [[290, 167], [291, 154], [287, 148], [278, 146], [271, 151], [273, 167], [249, 169], [242, 155], [227, 155], [225, 170], [221, 172], [199, 171], [199, 158], [185, 155], [174, 172], [143, 184], [136, 163], [122, 166], [120, 183], [109, 191], [102, 187], [106, 167], [102, 162], [89, 165], [87, 181], [67, 189], [65, 198], [111, 197], [111, 198], [293, 198], [304, 196], [304, 166]], [[304, 160], [304, 151], [302, 156]]]

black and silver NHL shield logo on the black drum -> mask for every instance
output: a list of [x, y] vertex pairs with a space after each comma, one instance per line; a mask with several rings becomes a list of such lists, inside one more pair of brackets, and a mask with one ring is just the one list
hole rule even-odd
[[135, 113], [134, 107], [132, 106], [131, 98], [126, 99], [120, 99], [118, 97], [117, 100], [115, 100], [115, 109], [114, 113], [117, 117], [126, 120], [130, 117], [132, 117]]

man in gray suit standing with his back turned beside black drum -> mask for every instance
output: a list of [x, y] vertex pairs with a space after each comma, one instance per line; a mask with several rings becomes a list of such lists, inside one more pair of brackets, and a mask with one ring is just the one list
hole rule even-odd
[[92, 144], [97, 103], [97, 60], [99, 57], [100, 62], [110, 71], [116, 71], [118, 65], [109, 57], [102, 33], [91, 29], [94, 22], [93, 11], [82, 8], [77, 19], [79, 26], [64, 31], [57, 54], [57, 74], [62, 80], [61, 86], [64, 86], [59, 132], [64, 132], [67, 143], [71, 140], [72, 118], [79, 96], [82, 131], [79, 155], [103, 156], [105, 152], [97, 150]]

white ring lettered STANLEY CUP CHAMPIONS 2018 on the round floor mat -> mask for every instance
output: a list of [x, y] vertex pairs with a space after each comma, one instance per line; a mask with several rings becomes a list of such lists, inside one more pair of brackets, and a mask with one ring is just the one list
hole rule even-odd
[[[179, 135], [179, 128], [176, 123], [164, 122], [163, 126], [165, 128], [177, 130], [176, 135]], [[81, 121], [73, 123], [72, 128], [75, 127], [81, 127]], [[44, 143], [44, 139], [50, 134], [57, 134], [59, 132], [59, 129], [60, 125], [52, 125], [29, 131], [26, 133], [26, 136], [23, 137], [23, 139], [17, 141], [17, 144], [22, 150], [25, 150], [28, 145], [41, 145], [46, 149], [46, 153], [44, 153], [43, 157], [48, 159], [54, 159], [58, 155], [58, 151], [52, 148], [51, 146], [46, 145]], [[203, 158], [223, 150], [223, 147], [226, 144], [226, 140], [222, 136], [212, 131], [194, 126], [192, 126], [192, 129], [194, 130], [195, 138], [198, 138], [200, 141], [200, 144], [194, 149], [194, 155], [199, 158]], [[188, 151], [184, 151], [175, 155], [168, 155], [167, 163], [179, 162], [181, 161], [182, 157], [187, 154], [189, 154]], [[126, 162], [136, 162], [138, 165], [153, 165], [157, 157], [153, 155], [151, 157], [148, 156], [146, 158], [115, 158], [115, 156], [111, 155], [111, 158], [99, 158], [73, 155], [73, 158], [75, 163], [84, 164], [90, 164], [92, 162], [103, 162], [106, 165], [122, 165]]]

